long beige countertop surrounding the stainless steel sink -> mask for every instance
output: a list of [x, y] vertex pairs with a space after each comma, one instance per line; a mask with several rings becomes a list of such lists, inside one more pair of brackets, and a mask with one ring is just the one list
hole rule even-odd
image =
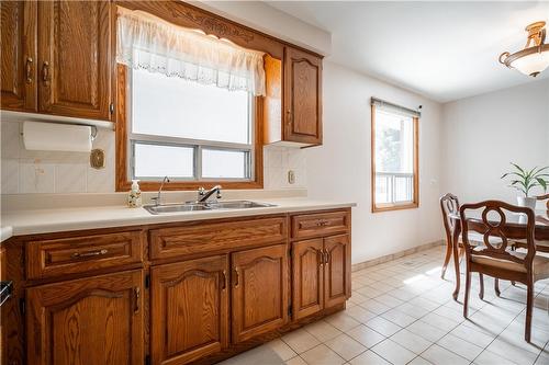
[[356, 206], [355, 203], [317, 201], [306, 197], [262, 198], [260, 203], [276, 206], [248, 209], [215, 209], [152, 215], [143, 207], [91, 206], [54, 209], [2, 212], [1, 241], [12, 236], [49, 233], [68, 230], [138, 226], [201, 219], [244, 217]]

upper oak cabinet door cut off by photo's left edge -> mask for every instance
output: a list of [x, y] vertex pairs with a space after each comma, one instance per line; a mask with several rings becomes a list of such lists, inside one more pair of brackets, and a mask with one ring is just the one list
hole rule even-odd
[[1, 107], [36, 111], [35, 1], [1, 1]]

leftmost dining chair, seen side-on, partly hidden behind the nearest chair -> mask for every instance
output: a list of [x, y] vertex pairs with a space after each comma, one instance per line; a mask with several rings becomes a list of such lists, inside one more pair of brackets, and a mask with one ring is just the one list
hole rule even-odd
[[[445, 232], [446, 232], [446, 255], [445, 255], [445, 261], [442, 264], [442, 270], [440, 273], [440, 278], [445, 278], [446, 274], [446, 269], [448, 267], [448, 263], [450, 262], [450, 258], [453, 252], [453, 239], [455, 239], [455, 233], [456, 230], [459, 229], [458, 224], [459, 220], [451, 219], [450, 217], [453, 216], [459, 216], [459, 199], [456, 195], [451, 193], [447, 193], [440, 197], [440, 210], [442, 212], [442, 223], [445, 226]], [[477, 241], [471, 240], [471, 242], [479, 243]], [[463, 243], [461, 240], [461, 235], [458, 236], [458, 262], [461, 261], [461, 258], [463, 256], [464, 249], [463, 249]], [[456, 263], [458, 265], [459, 263]], [[482, 274], [479, 274], [479, 280], [480, 280], [480, 290], [479, 290], [479, 297], [481, 299], [484, 298], [484, 277], [482, 277]]]

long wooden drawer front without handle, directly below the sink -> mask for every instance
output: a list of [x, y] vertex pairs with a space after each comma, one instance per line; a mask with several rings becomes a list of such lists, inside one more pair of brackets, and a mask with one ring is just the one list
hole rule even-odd
[[249, 246], [279, 243], [287, 238], [285, 217], [227, 223], [199, 223], [150, 231], [150, 258], [167, 259]]

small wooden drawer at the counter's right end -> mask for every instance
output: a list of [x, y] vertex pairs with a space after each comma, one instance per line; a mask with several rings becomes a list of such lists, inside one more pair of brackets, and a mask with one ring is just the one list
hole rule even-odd
[[292, 216], [292, 238], [296, 239], [346, 232], [349, 228], [350, 214], [346, 210]]

